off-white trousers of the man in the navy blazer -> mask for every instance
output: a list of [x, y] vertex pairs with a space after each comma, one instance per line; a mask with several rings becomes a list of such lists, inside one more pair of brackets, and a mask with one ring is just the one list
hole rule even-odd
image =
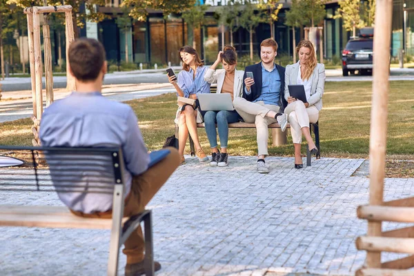
[[274, 118], [266, 117], [267, 112], [273, 110], [279, 111], [279, 106], [273, 104], [264, 104], [264, 101], [255, 103], [247, 101], [242, 97], [237, 97], [233, 101], [237, 112], [246, 123], [255, 123], [257, 130], [257, 155], [268, 155], [268, 125], [276, 123]]

